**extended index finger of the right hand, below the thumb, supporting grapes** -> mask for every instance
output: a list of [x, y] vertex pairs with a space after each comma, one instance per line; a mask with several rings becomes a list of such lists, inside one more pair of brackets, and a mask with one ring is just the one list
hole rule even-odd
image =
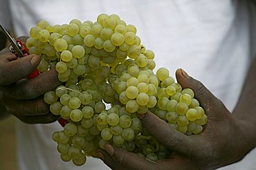
[[140, 115], [140, 119], [149, 133], [165, 147], [182, 155], [191, 155], [196, 152], [197, 145], [194, 144], [192, 137], [189, 138], [176, 131], [153, 113], [148, 111], [144, 115]]

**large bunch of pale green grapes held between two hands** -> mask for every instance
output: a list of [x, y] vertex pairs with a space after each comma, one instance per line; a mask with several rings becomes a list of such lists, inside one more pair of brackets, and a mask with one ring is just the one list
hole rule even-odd
[[63, 131], [53, 133], [64, 161], [80, 166], [107, 143], [152, 161], [168, 158], [171, 151], [137, 117], [147, 111], [186, 135], [201, 133], [208, 121], [190, 88], [183, 89], [166, 68], [153, 72], [154, 52], [118, 15], [55, 26], [39, 21], [26, 46], [41, 56], [41, 73], [55, 68], [63, 82], [44, 101], [66, 120]]

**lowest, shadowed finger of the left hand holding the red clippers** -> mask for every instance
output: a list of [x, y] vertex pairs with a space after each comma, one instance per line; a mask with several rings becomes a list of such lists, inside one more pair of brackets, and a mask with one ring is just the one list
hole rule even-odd
[[15, 115], [19, 120], [26, 124], [48, 124], [51, 122], [55, 122], [60, 118], [58, 115], [53, 115], [52, 113], [48, 113], [46, 115]]

